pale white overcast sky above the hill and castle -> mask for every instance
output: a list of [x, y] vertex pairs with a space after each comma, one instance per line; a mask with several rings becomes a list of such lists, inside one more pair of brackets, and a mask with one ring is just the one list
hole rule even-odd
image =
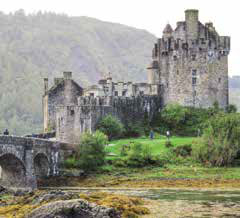
[[202, 23], [212, 21], [220, 35], [231, 36], [229, 74], [240, 75], [239, 0], [7, 0], [5, 13], [24, 9], [26, 13], [51, 11], [69, 16], [88, 16], [145, 29], [157, 37], [167, 23], [184, 20], [186, 9], [198, 9]]

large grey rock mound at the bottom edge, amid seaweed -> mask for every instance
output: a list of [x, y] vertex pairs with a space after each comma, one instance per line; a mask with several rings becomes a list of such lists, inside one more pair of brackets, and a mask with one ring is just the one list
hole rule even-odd
[[41, 206], [26, 218], [120, 218], [113, 208], [98, 206], [82, 199], [55, 201]]

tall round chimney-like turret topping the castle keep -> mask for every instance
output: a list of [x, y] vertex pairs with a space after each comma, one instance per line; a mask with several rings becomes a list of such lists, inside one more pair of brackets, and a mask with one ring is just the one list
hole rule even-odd
[[198, 10], [188, 9], [185, 11], [186, 34], [188, 40], [198, 38]]

